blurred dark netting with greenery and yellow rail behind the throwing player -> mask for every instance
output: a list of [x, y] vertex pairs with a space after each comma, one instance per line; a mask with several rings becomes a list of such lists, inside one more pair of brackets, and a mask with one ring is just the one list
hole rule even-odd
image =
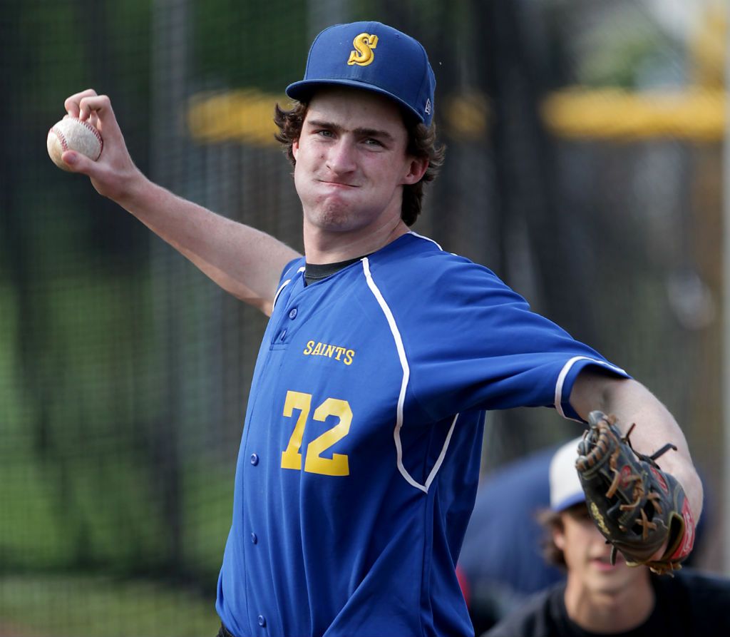
[[[447, 161], [415, 230], [650, 386], [718, 476], [725, 23], [700, 4], [3, 0], [0, 635], [215, 634], [265, 324], [56, 169], [47, 129], [109, 94], [150, 178], [301, 249], [270, 116], [338, 20], [429, 51]], [[493, 414], [485, 470], [576, 432]]]

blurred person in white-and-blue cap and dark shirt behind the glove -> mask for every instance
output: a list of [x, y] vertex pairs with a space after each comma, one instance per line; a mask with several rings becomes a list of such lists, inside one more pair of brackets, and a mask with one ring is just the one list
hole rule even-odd
[[539, 512], [545, 557], [566, 573], [522, 600], [483, 637], [687, 637], [730, 633], [730, 580], [685, 569], [658, 577], [630, 568], [611, 549], [588, 514], [575, 463], [578, 440], [550, 462], [550, 506]]

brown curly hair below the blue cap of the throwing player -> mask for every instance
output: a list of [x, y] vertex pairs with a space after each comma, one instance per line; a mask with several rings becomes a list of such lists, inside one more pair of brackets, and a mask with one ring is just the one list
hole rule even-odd
[[[291, 109], [285, 110], [276, 105], [274, 110], [274, 123], [279, 127], [275, 135], [277, 141], [283, 144], [283, 150], [291, 161], [292, 166], [296, 164], [292, 145], [299, 139], [301, 127], [304, 125], [304, 117], [307, 115], [307, 102], [294, 102]], [[408, 134], [408, 145], [406, 153], [413, 157], [426, 158], [429, 160], [429, 167], [423, 177], [417, 183], [403, 186], [403, 202], [401, 203], [401, 219], [407, 226], [415, 224], [420, 215], [423, 202], [423, 186], [433, 181], [444, 163], [445, 148], [437, 145], [436, 126], [424, 126], [415, 118], [402, 112], [403, 122]]]

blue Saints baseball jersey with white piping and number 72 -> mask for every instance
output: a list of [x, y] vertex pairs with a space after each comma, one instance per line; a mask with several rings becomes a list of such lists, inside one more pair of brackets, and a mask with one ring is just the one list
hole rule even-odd
[[485, 410], [577, 418], [585, 365], [625, 373], [417, 234], [303, 275], [258, 354], [218, 614], [237, 637], [473, 635], [455, 567]]

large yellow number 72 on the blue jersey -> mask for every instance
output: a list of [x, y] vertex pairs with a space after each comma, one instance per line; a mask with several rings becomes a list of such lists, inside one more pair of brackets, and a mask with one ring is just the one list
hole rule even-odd
[[[299, 411], [299, 416], [296, 419], [291, 438], [289, 438], [289, 444], [282, 451], [281, 466], [283, 469], [301, 470], [299, 449], [301, 449], [301, 440], [304, 437], [304, 426], [307, 424], [307, 418], [312, 409], [312, 395], [302, 392], [286, 392], [284, 416], [293, 417], [295, 409]], [[322, 473], [325, 476], [349, 476], [350, 465], [345, 454], [333, 453], [331, 458], [323, 458], [321, 454], [350, 432], [350, 423], [353, 422], [350, 403], [347, 403], [347, 400], [328, 398], [315, 409], [312, 419], [325, 422], [329, 416], [337, 417], [338, 422], [307, 445], [304, 470], [310, 473]]]

